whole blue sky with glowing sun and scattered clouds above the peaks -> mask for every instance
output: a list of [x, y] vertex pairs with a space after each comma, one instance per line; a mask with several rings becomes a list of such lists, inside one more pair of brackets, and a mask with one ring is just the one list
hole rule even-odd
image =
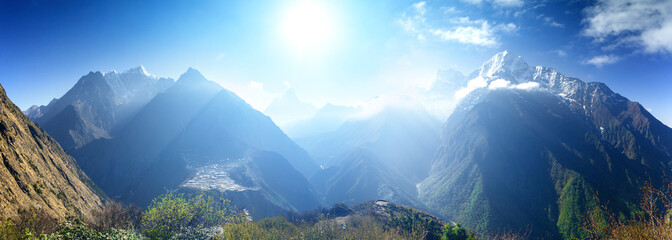
[[[306, 5], [320, 37], [297, 40], [287, 22]], [[605, 82], [670, 126], [669, 39], [672, 1], [657, 0], [1, 0], [0, 83], [26, 109], [89, 71], [195, 67], [260, 110], [288, 86], [319, 107], [427, 86], [442, 67], [468, 74], [509, 50]]]

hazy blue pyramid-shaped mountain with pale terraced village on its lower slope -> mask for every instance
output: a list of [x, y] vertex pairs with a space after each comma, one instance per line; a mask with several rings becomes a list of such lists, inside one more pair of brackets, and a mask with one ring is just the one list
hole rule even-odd
[[[272, 151], [279, 155], [254, 154], [257, 151]], [[311, 157], [269, 117], [191, 68], [170, 88], [138, 110], [115, 132], [114, 138], [95, 140], [72, 154], [108, 195], [140, 206], [148, 205], [165, 189], [180, 187], [205, 166], [230, 165], [243, 159], [271, 161], [265, 158], [271, 158], [275, 164], [284, 162], [284, 169], [298, 170], [286, 170], [283, 173], [287, 174], [285, 179], [273, 179], [272, 182], [303, 179], [303, 182], [291, 182], [300, 189], [297, 191], [301, 191], [291, 193], [291, 196], [302, 198], [292, 198], [290, 192], [257, 182], [253, 185], [259, 188], [245, 190], [264, 192], [258, 194], [263, 198], [255, 199], [255, 202], [285, 210], [319, 205], [303, 177], [318, 170]], [[236, 174], [248, 177], [261, 174], [262, 178], [270, 178], [266, 176], [269, 172], [263, 169], [241, 168], [245, 171]], [[278, 192], [284, 195], [278, 195]], [[259, 214], [270, 213], [260, 211]]]

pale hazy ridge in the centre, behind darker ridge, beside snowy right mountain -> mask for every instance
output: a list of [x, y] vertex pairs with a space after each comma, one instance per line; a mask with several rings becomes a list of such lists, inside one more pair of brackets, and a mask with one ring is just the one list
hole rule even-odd
[[439, 146], [440, 126], [422, 106], [390, 105], [370, 116], [351, 118], [336, 131], [297, 142], [325, 167], [338, 165], [341, 157], [362, 148], [390, 170], [420, 182]]

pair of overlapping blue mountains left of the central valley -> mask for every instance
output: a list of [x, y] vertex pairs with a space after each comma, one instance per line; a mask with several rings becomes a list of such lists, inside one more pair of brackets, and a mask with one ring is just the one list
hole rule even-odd
[[[245, 196], [258, 196], [254, 200], [258, 203], [258, 209], [268, 210], [255, 212], [259, 216], [320, 206], [321, 202], [304, 177], [318, 170], [311, 157], [291, 141], [269, 117], [254, 110], [233, 92], [205, 79], [195, 69], [189, 69], [176, 82], [159, 84], [168, 86], [159, 90], [155, 87], [161, 81], [146, 74], [144, 70], [131, 69], [121, 75], [124, 74], [135, 76], [127, 77], [136, 83], [130, 86], [144, 86], [140, 89], [127, 86], [126, 92], [133, 90], [156, 94], [143, 95], [142, 98], [132, 93], [120, 94], [124, 90], [113, 91], [112, 89], [116, 89], [116, 82], [107, 78], [110, 75], [115, 76], [114, 72], [92, 72], [83, 76], [61, 98], [64, 100], [52, 101], [46, 107], [41, 107], [40, 112], [44, 112], [44, 115], [38, 116], [34, 110], [27, 112], [29, 116], [36, 116], [36, 122], [41, 125], [53, 126], [46, 130], [55, 135], [63, 132], [92, 132], [90, 129], [105, 130], [103, 137], [80, 142], [81, 146], [78, 145], [69, 152], [110, 197], [147, 206], [166, 189], [190, 186], [184, 183], [197, 178], [195, 174], [199, 169], [217, 164], [244, 162], [242, 165], [245, 168], [236, 168], [239, 172], [229, 171], [227, 174], [243, 175], [239, 180], [255, 179], [245, 184], [236, 182], [235, 184], [244, 185], [246, 188], [232, 192], [242, 191], [241, 194]], [[142, 81], [145, 83], [137, 83]], [[71, 100], [74, 105], [63, 107], [61, 112], [54, 115], [70, 114], [71, 117], [45, 118], [49, 116], [46, 113], [57, 111], [56, 106], [66, 102], [70, 96], [76, 96]], [[123, 104], [115, 104], [119, 102]], [[75, 105], [83, 106], [80, 108], [93, 114], [80, 114], [80, 108]], [[115, 109], [124, 106], [132, 106], [133, 109], [126, 111], [128, 114], [124, 115], [125, 118], [119, 119], [116, 113], [121, 111]], [[102, 116], [97, 115], [98, 113]], [[87, 118], [89, 116], [91, 117]], [[96, 121], [89, 121], [90, 119]], [[91, 122], [96, 124], [90, 124]], [[66, 143], [71, 142], [70, 138], [62, 139]], [[265, 154], [264, 151], [277, 154]], [[273, 164], [269, 164], [271, 162]], [[285, 170], [280, 175], [273, 175], [268, 170], [269, 167]], [[277, 187], [290, 180], [292, 189], [282, 190]], [[219, 189], [226, 190], [227, 186]]]

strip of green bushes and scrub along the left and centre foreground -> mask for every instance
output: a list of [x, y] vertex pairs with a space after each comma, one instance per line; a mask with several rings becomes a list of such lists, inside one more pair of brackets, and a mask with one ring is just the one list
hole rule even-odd
[[[499, 239], [519, 239], [514, 237]], [[109, 202], [93, 219], [61, 223], [43, 209], [27, 209], [0, 222], [0, 239], [449, 239], [475, 240], [471, 230], [416, 209], [385, 201], [335, 204], [252, 221], [216, 192], [154, 199], [146, 211]]]

